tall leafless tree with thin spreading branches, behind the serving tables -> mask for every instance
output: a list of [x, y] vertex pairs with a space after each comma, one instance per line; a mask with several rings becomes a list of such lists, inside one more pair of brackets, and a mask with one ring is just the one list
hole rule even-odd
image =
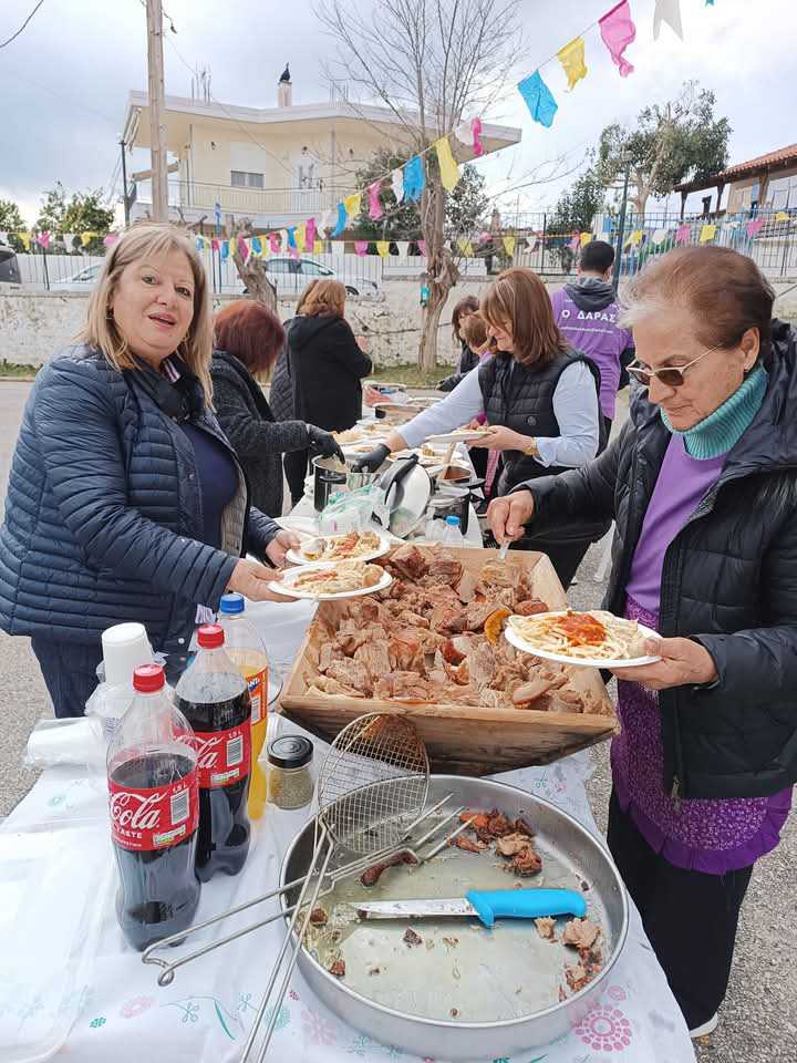
[[[369, 14], [351, 0], [323, 0], [318, 14], [338, 42], [327, 64], [332, 84], [353, 85], [362, 102], [349, 106], [369, 121], [377, 102], [396, 118], [396, 151], [422, 152], [463, 117], [483, 115], [506, 89], [520, 49], [514, 0], [375, 0]], [[428, 305], [418, 363], [437, 359], [437, 329], [459, 278], [445, 245], [446, 190], [434, 153], [426, 156], [421, 231], [426, 242]]]

